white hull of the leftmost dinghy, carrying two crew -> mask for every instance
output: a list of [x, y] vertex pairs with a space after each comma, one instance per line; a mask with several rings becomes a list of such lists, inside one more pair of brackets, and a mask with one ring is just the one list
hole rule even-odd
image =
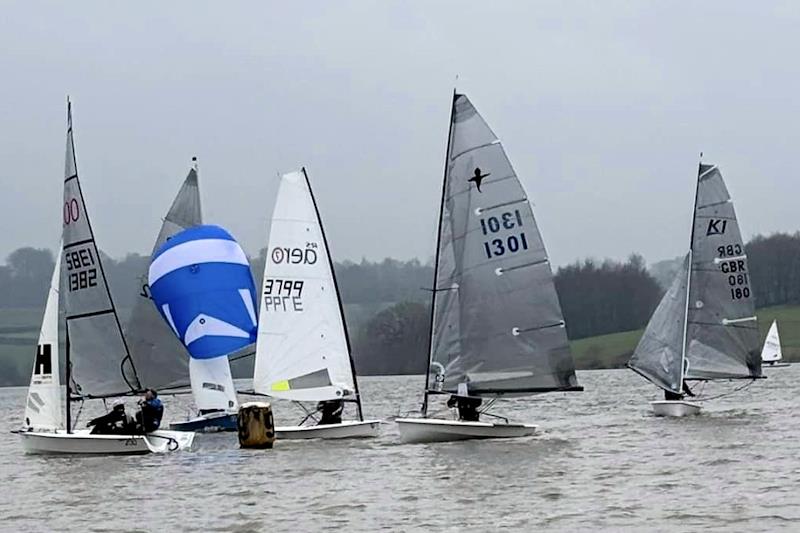
[[157, 430], [147, 435], [92, 435], [82, 429], [67, 433], [20, 431], [22, 447], [32, 454], [136, 455], [190, 448], [194, 433]]

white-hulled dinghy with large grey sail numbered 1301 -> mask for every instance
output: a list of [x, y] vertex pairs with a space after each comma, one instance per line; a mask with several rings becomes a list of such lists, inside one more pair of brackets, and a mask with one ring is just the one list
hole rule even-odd
[[[533, 435], [537, 426], [509, 423], [486, 409], [498, 398], [580, 390], [528, 195], [500, 140], [469, 99], [454, 94], [422, 417], [398, 418], [400, 438]], [[488, 405], [473, 410], [472, 420], [461, 410], [461, 420], [429, 417], [431, 396], [445, 394], [473, 408], [482, 400]], [[475, 420], [478, 414], [497, 422]]]

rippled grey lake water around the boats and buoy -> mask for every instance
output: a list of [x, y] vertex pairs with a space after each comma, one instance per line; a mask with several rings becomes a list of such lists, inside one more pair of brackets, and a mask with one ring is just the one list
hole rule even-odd
[[[388, 421], [373, 440], [254, 451], [211, 434], [189, 452], [139, 457], [24, 455], [8, 431], [26, 391], [0, 389], [0, 528], [800, 531], [800, 365], [766, 374], [695, 418], [655, 418], [653, 386], [591, 371], [578, 375], [584, 393], [497, 404], [538, 423], [532, 438], [402, 445]], [[362, 378], [365, 414], [415, 409], [423, 381]], [[188, 399], [165, 401], [168, 418], [185, 415]], [[278, 422], [300, 418], [273, 408]]]

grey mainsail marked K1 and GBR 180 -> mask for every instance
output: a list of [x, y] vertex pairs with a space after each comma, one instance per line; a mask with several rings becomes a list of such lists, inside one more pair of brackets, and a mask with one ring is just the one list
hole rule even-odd
[[686, 379], [761, 376], [755, 298], [719, 169], [700, 165], [692, 229]]

